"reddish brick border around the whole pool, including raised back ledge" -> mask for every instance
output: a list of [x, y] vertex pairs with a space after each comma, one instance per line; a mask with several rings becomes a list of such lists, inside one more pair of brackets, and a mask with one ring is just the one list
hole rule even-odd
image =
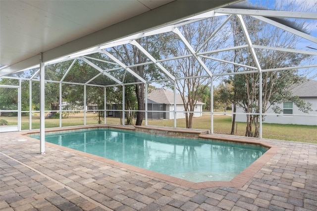
[[[125, 126], [125, 125], [108, 125], [108, 124], [103, 124], [103, 125], [89, 125], [89, 126], [73, 126], [73, 127], [63, 127], [63, 128], [51, 128], [51, 129], [46, 129], [45, 132], [57, 132], [57, 131], [69, 131], [69, 130], [78, 130], [78, 129], [88, 129], [88, 128], [116, 128], [116, 129], [124, 129], [124, 130], [135, 130], [137, 127], [142, 127], [142, 128], [147, 128], [147, 126]], [[154, 129], [155, 126], [150, 126], [148, 128]], [[92, 158], [96, 159], [102, 162], [105, 162], [107, 164], [115, 165], [121, 168], [121, 170], [130, 170], [130, 171], [135, 171], [144, 175], [156, 177], [171, 183], [175, 183], [178, 185], [182, 185], [185, 187], [193, 188], [193, 189], [205, 189], [205, 188], [213, 188], [213, 187], [221, 187], [221, 186], [226, 186], [226, 187], [243, 187], [263, 166], [265, 163], [268, 162], [270, 158], [272, 158], [275, 153], [280, 149], [278, 146], [270, 145], [267, 143], [261, 143], [260, 139], [255, 139], [255, 138], [249, 138], [249, 137], [238, 137], [238, 136], [229, 136], [229, 135], [217, 135], [217, 134], [206, 134], [206, 130], [204, 131], [203, 134], [199, 133], [199, 130], [194, 129], [185, 129], [185, 128], [168, 128], [168, 127], [157, 127], [161, 131], [172, 131], [174, 132], [179, 132], [179, 133], [194, 133], [198, 135], [198, 139], [204, 139], [204, 140], [217, 140], [217, 141], [224, 141], [224, 142], [235, 142], [235, 143], [245, 143], [245, 144], [251, 144], [251, 145], [260, 145], [265, 148], [269, 148], [260, 158], [258, 158], [256, 161], [254, 161], [251, 165], [249, 165], [247, 168], [245, 168], [240, 174], [235, 176], [232, 180], [230, 181], [206, 181], [206, 182], [191, 182], [187, 180], [183, 180], [180, 178], [176, 178], [173, 176], [165, 175], [159, 172], [151, 171], [148, 169], [144, 169], [141, 167], [129, 165], [126, 163], [122, 163], [119, 161], [111, 160], [108, 158], [103, 158], [100, 156], [95, 156], [92, 154], [84, 153], [81, 151], [77, 151], [74, 149], [70, 149], [67, 147], [59, 146], [56, 144], [48, 143], [45, 142], [46, 145], [57, 148], [63, 151], [68, 151], [70, 153], [74, 153], [83, 157], [87, 158]], [[21, 135], [30, 135], [34, 133], [39, 133], [39, 130], [32, 130], [32, 131], [23, 131]], [[38, 139], [34, 139], [31, 137], [28, 137], [28, 139], [39, 142]]]

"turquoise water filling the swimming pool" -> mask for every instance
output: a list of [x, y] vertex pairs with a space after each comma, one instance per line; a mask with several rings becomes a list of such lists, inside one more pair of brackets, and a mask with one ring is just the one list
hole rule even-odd
[[[31, 135], [39, 139], [39, 135]], [[266, 151], [263, 147], [171, 138], [117, 129], [54, 132], [47, 142], [192, 182], [230, 181]]]

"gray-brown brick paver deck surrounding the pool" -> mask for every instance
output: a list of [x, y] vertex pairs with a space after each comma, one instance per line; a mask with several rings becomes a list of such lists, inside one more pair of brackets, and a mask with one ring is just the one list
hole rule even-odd
[[317, 211], [317, 145], [261, 142], [279, 148], [244, 185], [194, 189], [1, 133], [0, 211]]

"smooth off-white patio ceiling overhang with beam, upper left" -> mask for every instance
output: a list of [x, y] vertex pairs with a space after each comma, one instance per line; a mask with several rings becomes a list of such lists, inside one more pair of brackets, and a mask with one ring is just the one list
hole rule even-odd
[[241, 0], [0, 0], [0, 76]]

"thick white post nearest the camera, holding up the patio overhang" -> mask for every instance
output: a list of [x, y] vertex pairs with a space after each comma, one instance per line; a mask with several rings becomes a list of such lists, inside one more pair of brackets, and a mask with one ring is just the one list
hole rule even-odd
[[40, 153], [45, 154], [45, 64], [40, 53]]

